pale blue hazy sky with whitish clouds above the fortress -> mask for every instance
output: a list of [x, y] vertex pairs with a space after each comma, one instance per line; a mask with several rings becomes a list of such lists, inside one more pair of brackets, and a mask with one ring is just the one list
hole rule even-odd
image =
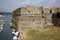
[[13, 10], [27, 5], [60, 7], [60, 0], [0, 0], [0, 12], [13, 12]]

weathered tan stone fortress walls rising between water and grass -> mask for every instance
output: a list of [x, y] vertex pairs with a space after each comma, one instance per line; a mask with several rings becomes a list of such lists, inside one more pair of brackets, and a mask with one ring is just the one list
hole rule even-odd
[[54, 22], [52, 22], [54, 20], [52, 15], [57, 14], [57, 12], [60, 12], [60, 8], [27, 6], [14, 10], [13, 19], [18, 20], [16, 22], [17, 24], [15, 24], [18, 30], [42, 29], [45, 24], [54, 25]]

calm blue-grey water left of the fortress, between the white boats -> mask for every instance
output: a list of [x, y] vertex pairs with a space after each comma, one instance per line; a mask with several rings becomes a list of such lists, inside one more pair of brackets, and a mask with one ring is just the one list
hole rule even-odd
[[2, 15], [4, 15], [4, 17], [0, 18], [0, 20], [3, 20], [5, 24], [3, 31], [0, 32], [0, 40], [12, 40], [12, 30], [9, 25], [9, 22], [11, 22], [12, 19], [12, 14], [2, 14]]

